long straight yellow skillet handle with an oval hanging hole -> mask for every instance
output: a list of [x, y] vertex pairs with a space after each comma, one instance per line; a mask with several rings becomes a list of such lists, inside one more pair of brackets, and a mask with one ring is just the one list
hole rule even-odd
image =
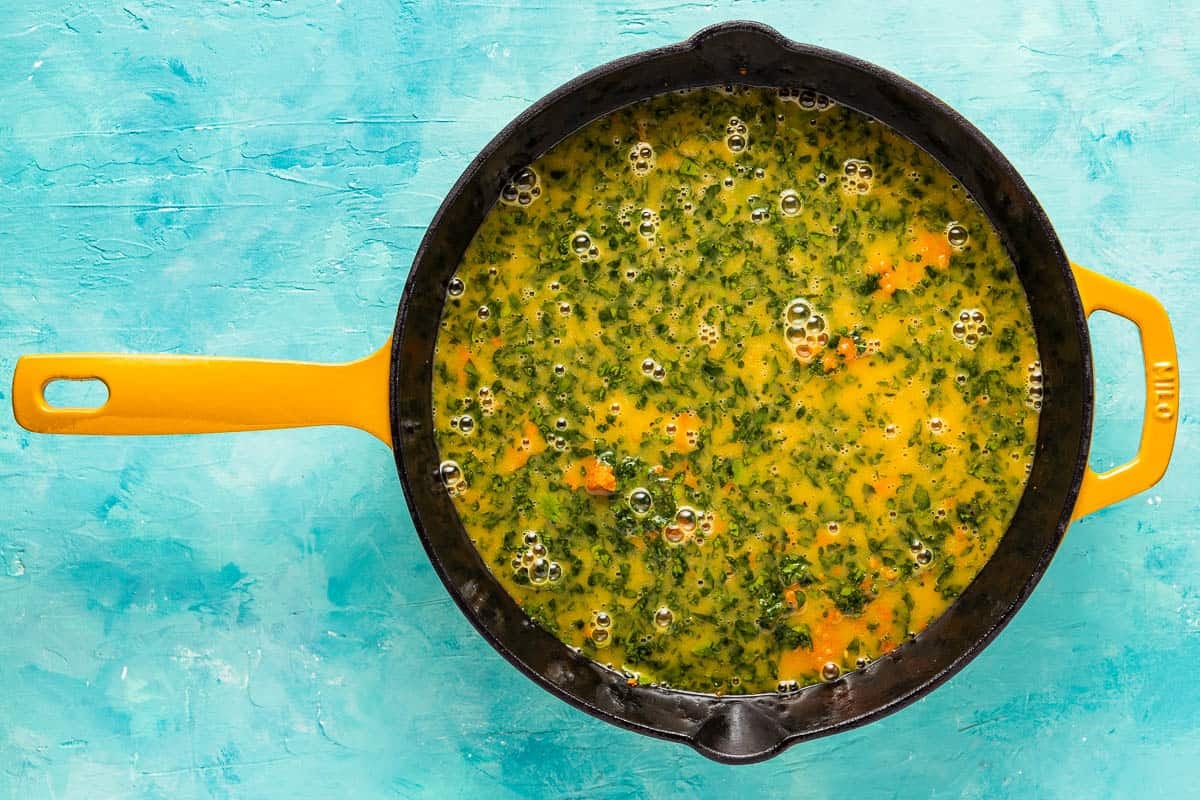
[[[187, 355], [26, 355], [12, 378], [17, 422], [35, 433], [223, 433], [344, 425], [391, 446], [391, 343], [359, 361], [304, 363]], [[108, 386], [97, 408], [46, 402], [55, 380]]]

